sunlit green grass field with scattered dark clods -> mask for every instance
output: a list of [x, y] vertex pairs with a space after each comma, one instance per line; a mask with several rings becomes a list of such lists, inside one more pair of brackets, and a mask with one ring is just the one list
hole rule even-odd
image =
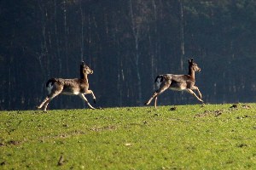
[[1, 111], [0, 169], [256, 169], [256, 104]]

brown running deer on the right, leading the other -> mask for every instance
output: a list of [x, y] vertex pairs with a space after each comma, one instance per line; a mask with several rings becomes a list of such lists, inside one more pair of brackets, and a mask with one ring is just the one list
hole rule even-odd
[[[196, 99], [203, 103], [204, 101], [201, 99], [201, 92], [199, 88], [195, 86], [195, 72], [201, 71], [201, 68], [196, 65], [194, 59], [189, 59], [189, 74], [188, 75], [173, 75], [173, 74], [165, 74], [160, 75], [155, 78], [155, 83], [157, 86], [157, 90], [154, 92], [152, 97], [148, 99], [145, 105], [149, 105], [152, 99], [154, 99], [154, 107], [156, 108], [157, 97], [162, 94], [166, 89], [177, 90], [177, 91], [186, 91], [189, 94], [195, 96]], [[196, 90], [199, 94], [199, 97], [192, 91]]]

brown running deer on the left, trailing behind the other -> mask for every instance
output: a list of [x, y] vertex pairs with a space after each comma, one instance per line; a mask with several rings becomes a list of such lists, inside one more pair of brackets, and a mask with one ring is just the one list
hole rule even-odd
[[96, 97], [91, 90], [89, 90], [89, 82], [88, 75], [92, 74], [93, 71], [89, 68], [89, 66], [84, 64], [80, 65], [80, 78], [74, 79], [62, 79], [62, 78], [51, 78], [48, 82], [46, 82], [46, 88], [48, 90], [48, 95], [38, 106], [38, 109], [41, 109], [44, 106], [44, 111], [46, 111], [47, 106], [50, 100], [54, 99], [59, 94], [66, 95], [79, 95], [84, 101], [89, 105], [90, 109], [95, 109], [90, 105], [88, 100], [85, 98], [84, 94], [91, 94], [96, 103]]

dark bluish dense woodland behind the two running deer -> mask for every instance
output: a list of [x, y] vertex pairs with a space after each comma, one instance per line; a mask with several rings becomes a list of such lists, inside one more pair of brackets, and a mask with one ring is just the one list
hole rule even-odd
[[[256, 101], [254, 0], [3, 0], [0, 110], [35, 109], [50, 77], [94, 71], [95, 106], [139, 106], [159, 74], [187, 74], [188, 59], [207, 103]], [[86, 95], [90, 103], [92, 98]], [[197, 104], [166, 91], [160, 105]], [[61, 95], [49, 109], [85, 108]]]

